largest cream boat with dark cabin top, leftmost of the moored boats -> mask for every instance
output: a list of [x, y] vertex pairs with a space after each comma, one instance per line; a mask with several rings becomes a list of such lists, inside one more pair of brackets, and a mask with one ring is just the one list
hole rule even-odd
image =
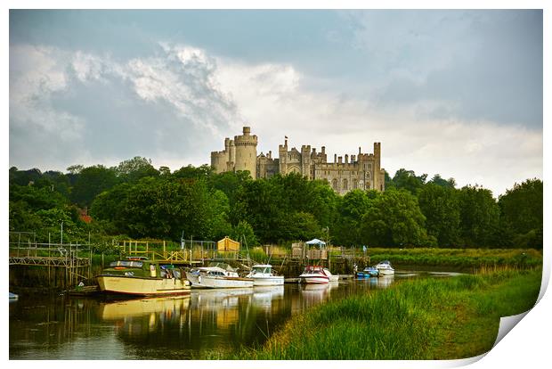
[[127, 295], [172, 295], [190, 293], [182, 269], [149, 260], [119, 260], [98, 275], [100, 291]]

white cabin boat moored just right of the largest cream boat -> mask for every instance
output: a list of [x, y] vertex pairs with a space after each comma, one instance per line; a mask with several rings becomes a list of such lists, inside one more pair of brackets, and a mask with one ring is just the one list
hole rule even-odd
[[212, 263], [191, 269], [188, 279], [193, 288], [243, 288], [253, 287], [251, 278], [241, 278], [225, 263]]

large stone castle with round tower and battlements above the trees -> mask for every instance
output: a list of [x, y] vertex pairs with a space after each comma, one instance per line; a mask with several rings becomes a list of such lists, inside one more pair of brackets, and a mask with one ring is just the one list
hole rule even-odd
[[[301, 146], [299, 152], [295, 147], [288, 150], [288, 137], [278, 148], [278, 158], [272, 158], [272, 152], [256, 154], [257, 136], [251, 135], [250, 127], [243, 127], [243, 135], [234, 139], [224, 139], [222, 152], [211, 152], [211, 166], [215, 173], [248, 170], [253, 178], [269, 178], [276, 173], [286, 175], [299, 173], [308, 179], [322, 179], [337, 193], [344, 194], [354, 189], [378, 191], [385, 190], [385, 170], [380, 167], [381, 143], [374, 143], [374, 153], [358, 155], [334, 155], [334, 162], [329, 163], [326, 147], [321, 152], [311, 145]], [[350, 159], [350, 160], [349, 160]]]

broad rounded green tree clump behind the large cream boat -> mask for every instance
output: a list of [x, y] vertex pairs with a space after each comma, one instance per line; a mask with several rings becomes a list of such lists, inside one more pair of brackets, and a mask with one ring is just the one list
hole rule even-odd
[[226, 195], [205, 181], [145, 177], [120, 184], [93, 202], [91, 214], [134, 238], [179, 239], [181, 234], [215, 239], [228, 234]]

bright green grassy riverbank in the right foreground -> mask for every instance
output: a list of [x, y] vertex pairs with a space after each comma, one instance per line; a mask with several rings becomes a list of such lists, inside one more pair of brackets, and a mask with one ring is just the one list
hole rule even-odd
[[540, 269], [413, 280], [292, 317], [261, 348], [230, 359], [453, 359], [491, 349], [500, 316], [531, 308]]

